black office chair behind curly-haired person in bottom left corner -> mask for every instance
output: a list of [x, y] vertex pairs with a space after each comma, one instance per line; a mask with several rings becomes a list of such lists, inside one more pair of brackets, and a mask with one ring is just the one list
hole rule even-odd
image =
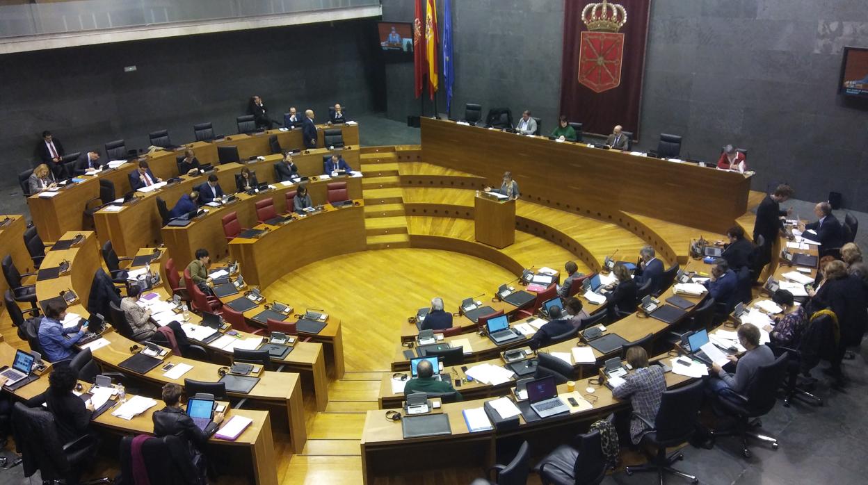
[[41, 407], [28, 408], [23, 403], [15, 403], [12, 408], [12, 423], [25, 473], [30, 471], [33, 475], [38, 469], [43, 482], [49, 483], [111, 483], [106, 477], [79, 481], [81, 470], [95, 457], [99, 444], [95, 435], [87, 433], [71, 442], [61, 442], [54, 415]]

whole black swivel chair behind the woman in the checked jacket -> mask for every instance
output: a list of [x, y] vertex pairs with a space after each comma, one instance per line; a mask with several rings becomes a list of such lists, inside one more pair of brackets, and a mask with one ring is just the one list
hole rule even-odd
[[627, 467], [625, 470], [627, 475], [633, 475], [636, 472], [655, 471], [661, 483], [663, 483], [663, 475], [666, 473], [682, 476], [693, 483], [700, 482], [694, 475], [687, 475], [672, 468], [672, 464], [683, 460], [684, 455], [681, 451], [675, 451], [672, 455], [667, 456], [666, 449], [679, 446], [694, 435], [702, 405], [702, 386], [704, 384], [703, 381], [696, 381], [680, 389], [664, 392], [657, 416], [654, 416], [654, 423], [648, 422], [647, 419], [638, 414], [633, 414], [633, 416], [641, 419], [648, 429], [651, 429], [645, 436], [642, 436], [641, 442], [656, 448], [657, 455], [648, 463]]

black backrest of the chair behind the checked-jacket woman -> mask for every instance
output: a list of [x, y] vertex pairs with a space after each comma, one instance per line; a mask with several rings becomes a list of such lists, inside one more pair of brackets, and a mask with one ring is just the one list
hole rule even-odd
[[685, 442], [694, 433], [694, 425], [702, 406], [702, 386], [698, 380], [687, 386], [663, 393], [660, 409], [654, 417], [657, 441]]

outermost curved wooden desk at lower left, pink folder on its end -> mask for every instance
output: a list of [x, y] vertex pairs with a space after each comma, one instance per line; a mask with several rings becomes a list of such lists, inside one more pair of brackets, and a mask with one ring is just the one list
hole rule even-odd
[[[0, 344], [0, 363], [9, 365], [14, 357], [14, 348], [9, 344]], [[12, 396], [20, 400], [30, 399], [48, 389], [48, 375], [49, 370], [44, 372], [43, 375], [35, 381], [24, 385], [14, 392], [10, 392], [10, 390], [5, 387], [3, 388], [3, 391], [10, 393]], [[85, 389], [88, 389], [90, 384], [82, 382], [82, 385], [85, 386]], [[133, 396], [128, 395], [127, 397], [129, 399]], [[112, 410], [107, 410], [91, 423], [94, 423], [95, 427], [99, 429], [105, 429], [123, 435], [153, 435], [154, 420], [152, 416], [156, 410], [161, 410], [163, 407], [163, 404], [159, 403], [159, 399], [157, 399], [157, 401], [158, 404], [155, 407], [146, 410], [129, 421], [120, 417], [112, 416]], [[226, 419], [228, 420], [232, 416], [245, 416], [252, 419], [253, 423], [251, 423], [250, 426], [248, 426], [247, 429], [245, 429], [233, 442], [221, 440], [220, 438], [212, 436], [211, 439], [208, 440], [208, 447], [214, 448], [214, 451], [216, 452], [215, 456], [234, 455], [237, 453], [236, 450], [247, 449], [249, 459], [253, 465], [251, 470], [253, 482], [257, 483], [257, 485], [277, 485], [277, 468], [274, 467], [274, 440], [272, 436], [271, 421], [268, 419], [268, 412], [230, 409], [227, 411]]]

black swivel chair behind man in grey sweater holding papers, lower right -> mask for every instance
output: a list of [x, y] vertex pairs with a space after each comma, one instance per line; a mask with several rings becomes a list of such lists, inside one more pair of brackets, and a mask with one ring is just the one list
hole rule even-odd
[[747, 438], [753, 437], [763, 442], [772, 443], [772, 449], [778, 449], [778, 440], [772, 436], [760, 434], [754, 429], [762, 426], [759, 416], [765, 416], [777, 403], [777, 391], [784, 383], [789, 357], [786, 352], [774, 360], [772, 364], [761, 365], [756, 370], [753, 381], [747, 386], [744, 396], [729, 393], [732, 399], [717, 399], [713, 409], [718, 414], [734, 416], [736, 422], [730, 429], [714, 429], [712, 439], [718, 436], [741, 436], [741, 454], [751, 457], [747, 448]]

